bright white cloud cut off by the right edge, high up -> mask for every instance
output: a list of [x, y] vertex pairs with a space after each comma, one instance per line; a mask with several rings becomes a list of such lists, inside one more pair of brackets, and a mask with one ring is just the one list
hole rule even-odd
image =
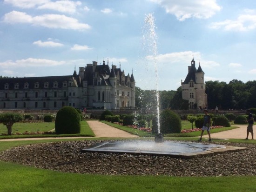
[[224, 20], [215, 22], [210, 25], [210, 28], [220, 29], [225, 31], [249, 31], [256, 28], [256, 13], [255, 10], [245, 10], [245, 14], [238, 16], [236, 20]]

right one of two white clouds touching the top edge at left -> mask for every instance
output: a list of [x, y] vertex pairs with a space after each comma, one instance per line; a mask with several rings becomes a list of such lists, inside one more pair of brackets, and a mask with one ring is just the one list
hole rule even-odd
[[38, 9], [51, 9], [62, 13], [75, 13], [76, 7], [81, 6], [80, 1], [57, 0], [40, 5]]

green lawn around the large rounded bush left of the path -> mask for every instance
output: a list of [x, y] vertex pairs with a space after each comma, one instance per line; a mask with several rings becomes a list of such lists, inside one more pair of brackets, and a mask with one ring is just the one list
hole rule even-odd
[[[15, 126], [15, 124], [13, 124], [13, 126]], [[25, 132], [25, 131], [34, 132], [33, 129], [36, 131], [44, 131], [45, 127], [48, 127], [47, 131], [50, 131], [50, 130], [54, 129], [54, 126], [55, 126], [54, 123], [46, 123], [46, 122], [17, 123], [17, 127], [19, 127], [20, 130], [24, 130], [24, 131], [19, 131], [19, 132]], [[34, 127], [36, 127], [36, 128], [34, 128]], [[5, 129], [7, 132], [7, 128], [5, 128]], [[88, 126], [88, 123], [86, 121], [81, 121], [81, 132], [78, 134], [7, 135], [7, 136], [0, 136], [0, 139], [40, 138], [40, 137], [94, 137], [94, 136], [95, 136], [95, 134]]]

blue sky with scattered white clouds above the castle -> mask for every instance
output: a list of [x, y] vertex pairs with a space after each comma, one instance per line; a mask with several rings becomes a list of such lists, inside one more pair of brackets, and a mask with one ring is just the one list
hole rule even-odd
[[[143, 46], [152, 13], [156, 60]], [[143, 30], [144, 29], [144, 30]], [[1, 0], [0, 75], [72, 75], [103, 59], [136, 86], [176, 90], [194, 55], [205, 80], [256, 80], [255, 0]]]

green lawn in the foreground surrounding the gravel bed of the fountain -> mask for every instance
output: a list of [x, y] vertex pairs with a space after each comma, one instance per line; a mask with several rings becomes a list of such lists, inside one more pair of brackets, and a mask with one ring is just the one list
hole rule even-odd
[[[95, 139], [95, 138], [92, 138]], [[111, 138], [109, 138], [111, 139]], [[167, 138], [168, 139], [168, 138]], [[174, 139], [174, 138], [172, 138]], [[189, 139], [189, 138], [176, 138]], [[192, 138], [190, 138], [192, 139]], [[67, 139], [61, 139], [67, 140]], [[70, 140], [70, 139], [68, 139]], [[72, 139], [74, 140], [74, 139]], [[78, 140], [78, 139], [75, 139]], [[81, 140], [81, 139], [80, 139]], [[239, 139], [234, 139], [239, 141]], [[2, 141], [13, 146], [56, 140]], [[230, 140], [229, 140], [230, 142]], [[240, 142], [250, 142], [241, 140]], [[252, 141], [256, 144], [256, 141]], [[63, 173], [0, 161], [0, 192], [255, 192], [256, 176], [170, 177]]]

